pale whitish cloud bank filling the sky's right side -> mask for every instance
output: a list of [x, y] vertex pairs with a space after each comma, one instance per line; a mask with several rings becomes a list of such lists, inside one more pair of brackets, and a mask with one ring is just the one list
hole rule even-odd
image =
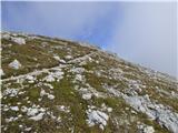
[[111, 44], [107, 49], [132, 62], [176, 75], [176, 4], [130, 2], [122, 3], [121, 7], [122, 23], [116, 28]]

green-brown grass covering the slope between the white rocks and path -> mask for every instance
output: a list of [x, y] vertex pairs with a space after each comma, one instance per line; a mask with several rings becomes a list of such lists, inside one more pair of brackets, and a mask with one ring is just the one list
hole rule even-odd
[[[66, 42], [57, 39], [55, 41], [43, 41], [41, 39], [28, 40], [27, 44], [24, 45], [18, 45], [14, 44], [14, 42], [4, 39], [2, 39], [1, 42], [2, 69], [6, 73], [2, 79], [10, 78], [11, 75], [29, 73], [33, 70], [56, 66], [59, 64], [59, 62], [52, 58], [53, 54], [59, 55], [61, 59], [65, 59], [65, 57], [68, 54], [77, 58], [96, 51], [95, 49], [78, 45], [75, 42]], [[42, 45], [42, 42], [46, 42], [44, 47]], [[8, 47], [10, 43], [12, 45]], [[126, 131], [128, 131], [129, 133], [137, 132], [137, 122], [152, 125], [158, 133], [167, 132], [165, 129], [161, 129], [156, 122], [150, 121], [145, 114], [131, 113], [131, 110], [134, 109], [131, 109], [122, 99], [109, 95], [107, 91], [102, 88], [102, 84], [107, 83], [109, 85], [117, 85], [120, 91], [125, 91], [125, 89], [128, 88], [127, 81], [112, 79], [113, 73], [109, 73], [110, 68], [119, 68], [125, 72], [123, 76], [126, 79], [140, 80], [147, 86], [146, 89], [144, 89], [141, 93], [142, 95], [149, 94], [151, 99], [157, 100], [159, 103], [162, 103], [165, 105], [169, 105], [172, 108], [174, 111], [178, 112], [177, 99], [168, 98], [165, 94], [158, 94], [155, 90], [155, 86], [159, 86], [166, 91], [176, 91], [176, 85], [174, 83], [168, 86], [168, 81], [157, 81], [150, 79], [146, 73], [141, 72], [135, 65], [128, 64], [123, 61], [118, 62], [116, 60], [106, 58], [106, 55], [100, 52], [91, 55], [91, 58], [93, 60], [98, 60], [99, 64], [96, 62], [87, 62], [87, 64], [83, 65], [79, 65], [78, 63], [73, 63], [71, 65], [75, 65], [76, 68], [85, 68], [87, 70], [83, 73], [86, 82], [89, 83], [90, 86], [96, 89], [98, 92], [102, 92], [108, 95], [107, 98], [92, 96], [92, 99], [89, 101], [82, 100], [81, 94], [77, 90], [75, 90], [75, 86], [85, 86], [86, 84], [72, 82], [75, 79], [75, 74], [69, 72], [70, 66], [62, 69], [65, 75], [60, 82], [51, 83], [51, 85], [53, 86], [53, 95], [56, 96], [55, 100], [48, 100], [46, 96], [43, 96], [42, 101], [39, 102], [38, 99], [40, 96], [40, 90], [44, 89], [46, 86], [36, 86], [38, 82], [29, 84], [27, 81], [24, 81], [22, 83], [24, 88], [22, 88], [20, 91], [26, 92], [22, 95], [16, 98], [2, 98], [2, 104], [17, 105], [17, 103], [20, 102], [21, 104], [18, 105], [19, 108], [21, 108], [22, 105], [31, 106], [32, 104], [38, 104], [41, 108], [48, 108], [48, 111], [53, 112], [56, 116], [60, 115], [62, 122], [58, 123], [55, 120], [50, 119], [48, 115], [46, 115], [42, 121], [33, 122], [32, 120], [29, 120], [28, 116], [21, 111], [2, 111], [2, 125], [7, 125], [8, 127], [7, 131], [3, 131], [2, 129], [2, 132], [18, 133], [21, 131], [19, 124], [22, 124], [23, 126], [31, 126], [31, 132], [36, 131], [40, 133], [70, 132], [71, 127], [75, 127], [76, 133], [98, 133], [101, 132], [99, 126], [96, 125], [93, 127], [89, 127], [87, 125], [86, 110], [88, 109], [88, 105], [95, 105], [100, 109], [102, 103], [113, 109], [113, 111], [109, 114], [110, 119], [103, 130], [103, 132], [106, 133], [117, 133]], [[8, 66], [8, 64], [14, 59], [19, 60], [22, 64], [22, 68], [20, 70], [12, 70]], [[126, 65], [128, 68], [126, 68]], [[105, 71], [102, 75], [106, 76], [97, 76], [96, 73], [90, 73], [90, 71], [100, 70]], [[130, 74], [129, 72], [131, 72], [132, 74]], [[38, 81], [40, 79], [43, 79], [44, 75], [46, 73], [40, 74], [37, 78]], [[111, 76], [111, 79], [108, 79], [109, 76]], [[8, 82], [11, 83], [9, 86]], [[19, 89], [19, 86], [20, 84], [17, 83], [17, 81], [7, 81], [2, 84], [2, 92], [7, 90], [7, 88]], [[26, 98], [29, 98], [29, 101], [31, 102], [28, 103]], [[56, 105], [70, 106], [70, 113], [63, 113], [58, 111]], [[19, 114], [22, 114], [22, 117], [18, 119], [18, 121], [10, 123], [6, 122], [7, 117], [17, 116]], [[119, 122], [119, 124], [117, 122]], [[57, 126], [60, 127], [57, 129]]]

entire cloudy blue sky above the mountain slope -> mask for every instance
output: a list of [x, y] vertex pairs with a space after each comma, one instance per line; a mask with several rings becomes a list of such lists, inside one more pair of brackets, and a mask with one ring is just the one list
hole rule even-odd
[[[2, 30], [97, 44], [176, 75], [174, 2], [2, 2]], [[178, 73], [177, 73], [178, 74]]]

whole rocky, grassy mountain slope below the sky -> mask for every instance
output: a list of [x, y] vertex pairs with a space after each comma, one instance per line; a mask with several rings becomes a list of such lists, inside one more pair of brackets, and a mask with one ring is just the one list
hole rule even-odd
[[85, 43], [1, 33], [2, 133], [178, 133], [178, 82]]

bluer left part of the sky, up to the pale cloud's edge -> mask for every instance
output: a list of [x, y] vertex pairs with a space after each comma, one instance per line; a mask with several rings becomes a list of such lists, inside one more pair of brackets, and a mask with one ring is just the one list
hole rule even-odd
[[2, 29], [103, 47], [116, 25], [117, 9], [118, 3], [109, 2], [2, 2]]

